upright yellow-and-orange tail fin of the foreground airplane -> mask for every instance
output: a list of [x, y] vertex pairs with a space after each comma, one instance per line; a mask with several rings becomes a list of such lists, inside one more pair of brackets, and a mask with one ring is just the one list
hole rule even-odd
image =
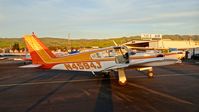
[[24, 41], [26, 47], [32, 58], [33, 64], [47, 64], [47, 60], [55, 58], [56, 56], [36, 37], [32, 35], [25, 35]]

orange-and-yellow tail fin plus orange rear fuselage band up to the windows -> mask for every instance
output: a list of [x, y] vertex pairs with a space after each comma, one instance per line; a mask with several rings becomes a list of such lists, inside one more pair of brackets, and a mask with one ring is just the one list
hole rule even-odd
[[32, 57], [33, 64], [58, 64], [71, 61], [92, 60], [90, 53], [75, 56], [56, 57], [35, 35], [24, 36], [25, 43]]

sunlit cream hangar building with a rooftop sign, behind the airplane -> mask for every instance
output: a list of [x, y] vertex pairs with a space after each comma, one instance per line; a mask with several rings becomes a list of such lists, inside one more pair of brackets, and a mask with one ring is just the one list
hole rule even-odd
[[145, 47], [145, 48], [177, 48], [188, 49], [199, 47], [199, 41], [189, 40], [170, 40], [162, 39], [161, 34], [141, 34], [141, 40], [130, 41], [125, 43], [129, 48]]

